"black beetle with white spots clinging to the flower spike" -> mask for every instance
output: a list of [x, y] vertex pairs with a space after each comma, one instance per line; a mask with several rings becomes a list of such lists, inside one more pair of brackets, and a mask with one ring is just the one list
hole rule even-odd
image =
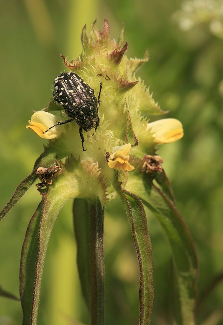
[[94, 89], [90, 87], [83, 79], [74, 72], [65, 72], [60, 74], [54, 80], [54, 100], [62, 105], [66, 114], [70, 117], [67, 121], [59, 122], [51, 126], [62, 125], [75, 120], [80, 126], [79, 134], [81, 136], [82, 148], [84, 150], [84, 136], [82, 129], [85, 132], [90, 131], [95, 127], [95, 131], [99, 126], [98, 108], [100, 106], [100, 95], [102, 83], [100, 82], [100, 91], [98, 99], [94, 96]]

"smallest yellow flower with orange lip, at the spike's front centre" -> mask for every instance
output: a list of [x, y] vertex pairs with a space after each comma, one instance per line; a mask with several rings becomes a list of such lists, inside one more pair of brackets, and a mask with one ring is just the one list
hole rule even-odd
[[128, 162], [130, 156], [130, 143], [125, 144], [124, 146], [118, 146], [113, 148], [113, 153], [109, 157], [108, 166], [117, 170], [126, 170], [131, 171], [135, 167], [131, 166]]

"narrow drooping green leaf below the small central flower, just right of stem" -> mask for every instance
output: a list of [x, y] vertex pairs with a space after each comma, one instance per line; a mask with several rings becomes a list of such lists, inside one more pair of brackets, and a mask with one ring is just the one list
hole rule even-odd
[[147, 218], [142, 201], [134, 194], [124, 191], [120, 187], [117, 178], [113, 184], [120, 196], [129, 223], [139, 259], [140, 287], [140, 325], [150, 324], [153, 308], [153, 269], [152, 269], [152, 246], [147, 226]]

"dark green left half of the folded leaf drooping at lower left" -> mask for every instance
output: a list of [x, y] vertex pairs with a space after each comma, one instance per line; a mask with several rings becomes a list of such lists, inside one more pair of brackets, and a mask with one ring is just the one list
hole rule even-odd
[[32, 324], [33, 289], [35, 282], [36, 260], [38, 257], [38, 232], [43, 209], [43, 200], [33, 214], [22, 245], [19, 292], [23, 311], [23, 325]]

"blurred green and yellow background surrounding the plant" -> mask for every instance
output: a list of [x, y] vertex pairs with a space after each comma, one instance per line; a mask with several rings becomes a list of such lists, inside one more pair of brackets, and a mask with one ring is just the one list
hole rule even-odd
[[[0, 209], [30, 174], [46, 143], [25, 125], [31, 110], [41, 110], [52, 97], [53, 81], [65, 70], [59, 55], [78, 57], [85, 23], [89, 31], [97, 18], [103, 29], [106, 18], [113, 38], [124, 22], [128, 57], [142, 58], [146, 48], [150, 53], [137, 75], [161, 109], [169, 110], [167, 117], [184, 127], [184, 137], [158, 153], [198, 253], [197, 321], [214, 325], [223, 324], [223, 38], [216, 24], [223, 23], [223, 14], [214, 10], [222, 0], [202, 3], [212, 6], [196, 11], [187, 3], [184, 12], [176, 13], [180, 0], [0, 0]], [[0, 285], [16, 296], [20, 251], [40, 199], [33, 186], [0, 224]], [[75, 262], [71, 207], [68, 202], [58, 215], [48, 245], [41, 325], [79, 324], [74, 319], [89, 323]], [[154, 265], [152, 324], [172, 324], [171, 257], [156, 219], [149, 211], [147, 215]], [[111, 201], [105, 215], [106, 325], [139, 323], [138, 273], [124, 209], [118, 200]], [[19, 302], [0, 297], [0, 325], [20, 325], [21, 320]]]

